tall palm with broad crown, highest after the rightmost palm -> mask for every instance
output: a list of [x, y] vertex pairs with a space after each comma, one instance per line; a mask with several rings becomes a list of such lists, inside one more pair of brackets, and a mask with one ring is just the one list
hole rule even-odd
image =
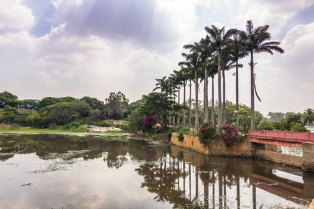
[[[211, 47], [216, 50], [218, 54], [218, 127], [223, 125], [222, 121], [222, 107], [221, 107], [221, 72], [223, 69], [223, 51], [230, 48], [232, 43], [231, 37], [237, 33], [237, 29], [230, 29], [225, 31], [225, 27], [218, 29], [216, 26], [205, 26], [209, 38], [211, 38]], [[220, 129], [218, 128], [218, 132]]]

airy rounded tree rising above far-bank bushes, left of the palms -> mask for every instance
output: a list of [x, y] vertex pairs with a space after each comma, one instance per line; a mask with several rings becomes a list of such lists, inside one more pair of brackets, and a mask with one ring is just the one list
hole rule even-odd
[[110, 118], [117, 118], [118, 116], [121, 116], [121, 118], [124, 117], [129, 102], [124, 93], [121, 93], [121, 91], [118, 93], [112, 92], [110, 93], [109, 98], [105, 99], [105, 102], [107, 106], [105, 111]]

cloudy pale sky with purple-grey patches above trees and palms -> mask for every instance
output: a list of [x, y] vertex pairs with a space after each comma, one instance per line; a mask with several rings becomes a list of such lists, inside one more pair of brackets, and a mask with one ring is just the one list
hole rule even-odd
[[[180, 70], [183, 46], [204, 38], [205, 26], [245, 30], [247, 20], [268, 24], [285, 50], [255, 54], [255, 110], [314, 108], [314, 0], [0, 0], [0, 92], [104, 101], [121, 91], [135, 102]], [[250, 107], [248, 62], [240, 61], [239, 102]], [[233, 73], [226, 99], [235, 102]]]

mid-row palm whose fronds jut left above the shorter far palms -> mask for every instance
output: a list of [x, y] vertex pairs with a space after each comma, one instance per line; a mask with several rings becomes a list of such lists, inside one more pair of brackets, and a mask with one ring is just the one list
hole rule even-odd
[[184, 62], [179, 62], [179, 66], [185, 66], [187, 70], [190, 70], [195, 75], [195, 129], [199, 129], [199, 116], [198, 116], [198, 75], [200, 70], [201, 58], [197, 52], [192, 54], [182, 53], [182, 56], [186, 59]]

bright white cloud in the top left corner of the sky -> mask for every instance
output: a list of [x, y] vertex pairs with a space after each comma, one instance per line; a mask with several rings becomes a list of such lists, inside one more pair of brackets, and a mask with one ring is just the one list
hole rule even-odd
[[25, 29], [33, 26], [35, 17], [22, 0], [0, 0], [0, 29]]

